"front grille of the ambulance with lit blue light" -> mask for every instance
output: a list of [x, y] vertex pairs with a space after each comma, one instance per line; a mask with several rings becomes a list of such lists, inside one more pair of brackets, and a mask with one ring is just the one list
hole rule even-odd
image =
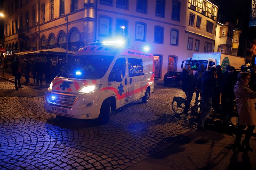
[[52, 93], [50, 96], [50, 101], [57, 104], [73, 105], [76, 100], [76, 96], [69, 96], [63, 94]]

